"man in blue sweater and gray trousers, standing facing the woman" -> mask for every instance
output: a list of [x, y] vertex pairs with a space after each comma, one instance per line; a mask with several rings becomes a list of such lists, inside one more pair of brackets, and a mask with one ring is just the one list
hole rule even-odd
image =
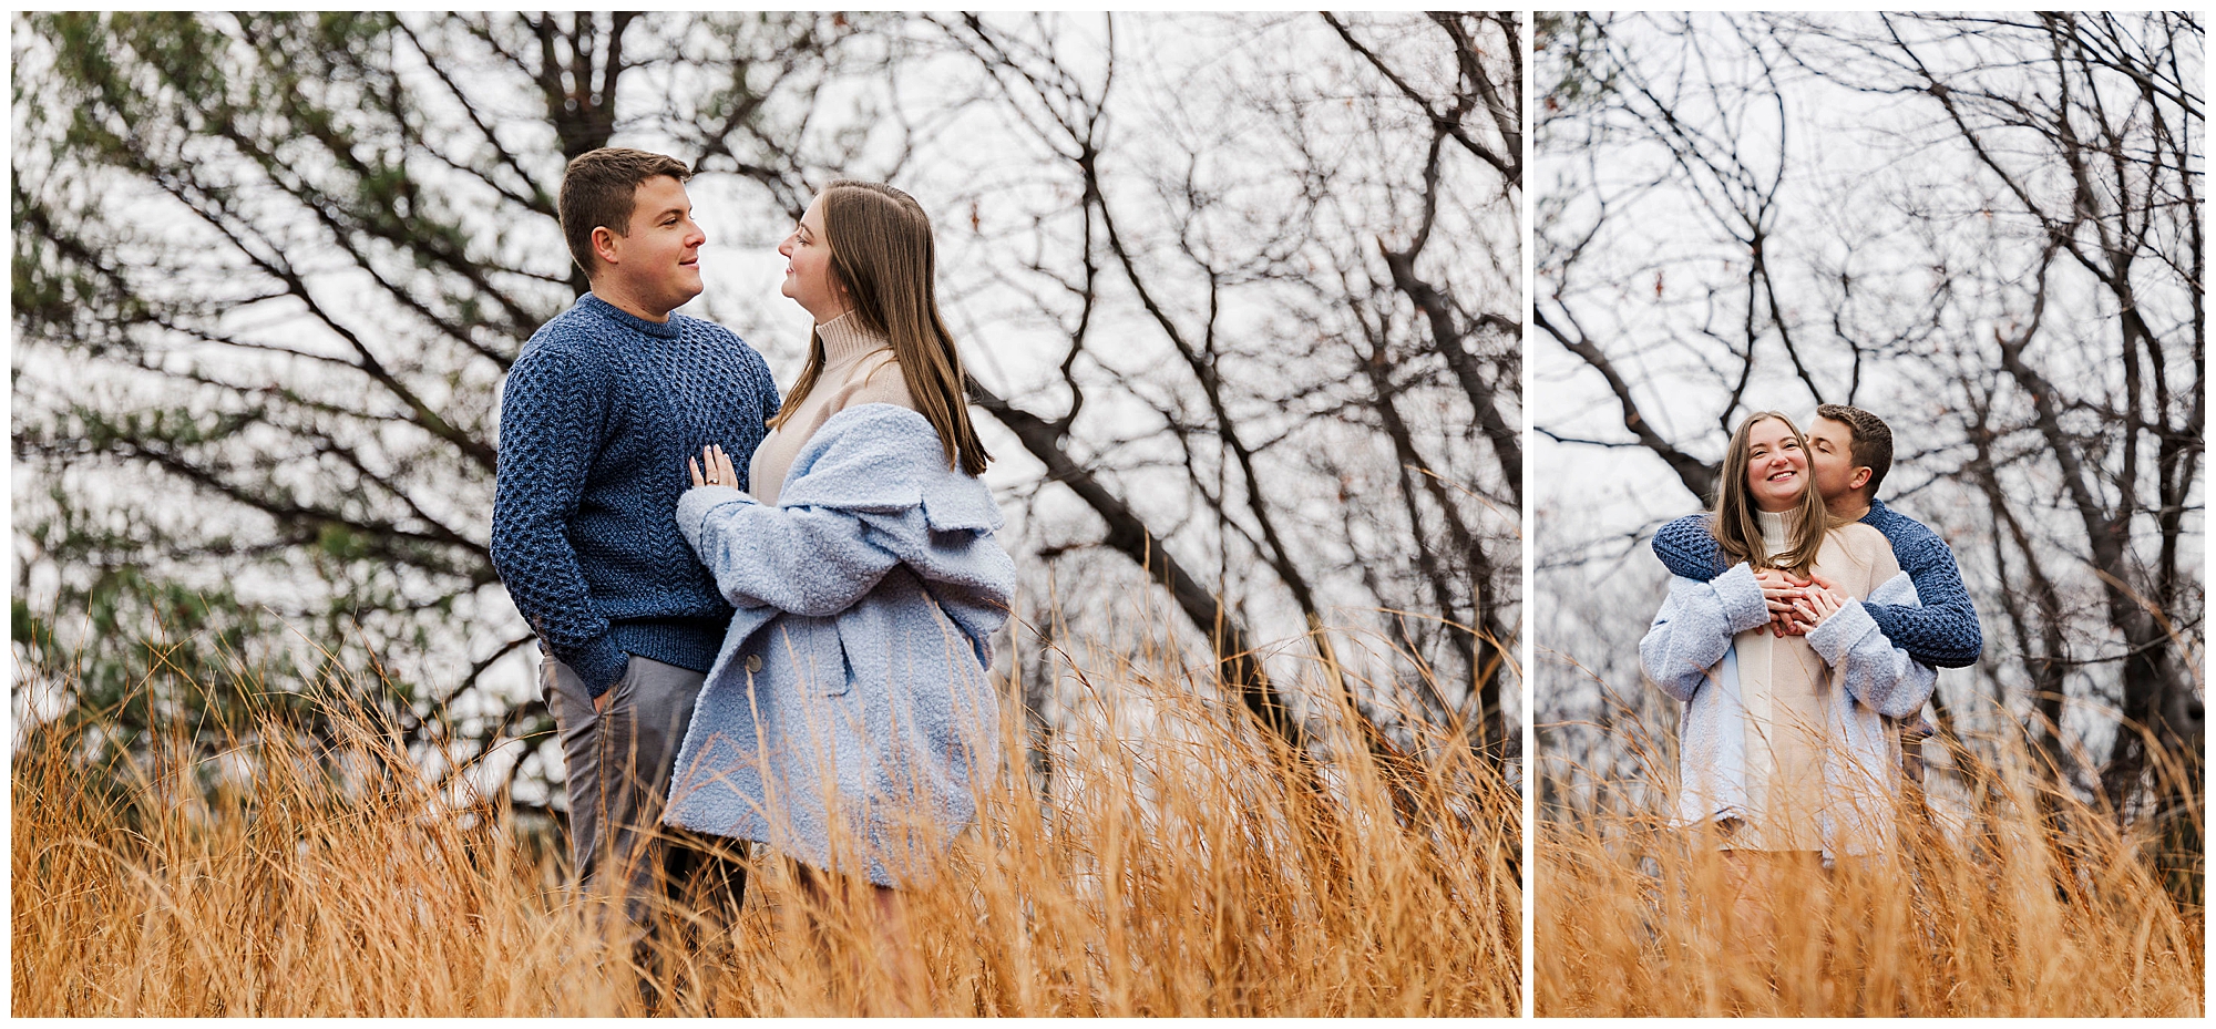
[[705, 872], [727, 885], [711, 898], [725, 905], [745, 887], [736, 865], [705, 854], [707, 840], [665, 843], [658, 827], [694, 699], [731, 623], [676, 526], [691, 486], [685, 459], [707, 444], [753, 452], [778, 410], [762, 355], [722, 326], [674, 315], [700, 295], [707, 242], [689, 177], [683, 162], [632, 149], [570, 162], [561, 226], [592, 293], [541, 326], [507, 370], [492, 501], [492, 566], [545, 652], [538, 687], [567, 765], [576, 876], [623, 898], [634, 934], [656, 883], [676, 894]]

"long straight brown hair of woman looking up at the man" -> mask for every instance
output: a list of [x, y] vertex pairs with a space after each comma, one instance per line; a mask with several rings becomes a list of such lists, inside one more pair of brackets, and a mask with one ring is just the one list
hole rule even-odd
[[[893, 342], [893, 361], [917, 412], [940, 432], [946, 463], [966, 475], [984, 472], [984, 452], [968, 419], [962, 355], [940, 317], [937, 255], [931, 215], [915, 197], [882, 182], [838, 180], [822, 191], [824, 244], [831, 275], [847, 288], [862, 328]], [[782, 424], [815, 388], [824, 370], [824, 342], [809, 330], [809, 361], [784, 395], [771, 428]]]

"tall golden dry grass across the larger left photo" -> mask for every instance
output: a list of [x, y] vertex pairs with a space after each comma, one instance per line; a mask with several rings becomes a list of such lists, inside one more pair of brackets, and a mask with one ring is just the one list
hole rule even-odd
[[[350, 687], [324, 690], [324, 743], [248, 712], [224, 754], [179, 727], [89, 763], [100, 725], [16, 752], [13, 1013], [640, 1011], [638, 967], [596, 943], [558, 863], [499, 803], [428, 785]], [[906, 892], [924, 982], [889, 982], [866, 907], [811, 927], [769, 858], [731, 931], [663, 958], [658, 1009], [1516, 1013], [1518, 801], [1465, 745], [1396, 772], [1347, 745], [1319, 767], [1174, 674], [1086, 690], [1101, 716], [1059, 734], [1055, 803], [1004, 770], [946, 872]], [[1327, 730], [1352, 738], [1343, 716]]]

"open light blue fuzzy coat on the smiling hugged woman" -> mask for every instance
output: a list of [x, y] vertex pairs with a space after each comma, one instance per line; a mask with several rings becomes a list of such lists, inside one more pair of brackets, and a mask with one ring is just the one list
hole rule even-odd
[[[1917, 588], [1895, 574], [1870, 590], [1870, 603], [1915, 608]], [[1678, 701], [1678, 823], [1702, 825], [1746, 816], [1746, 707], [1740, 701], [1740, 663], [1731, 639], [1771, 621], [1762, 585], [1746, 563], [1715, 581], [1673, 577], [1655, 612], [1640, 663], [1646, 676]], [[1824, 858], [1873, 854], [1892, 836], [1892, 798], [1901, 754], [1897, 719], [1930, 701], [1939, 672], [1895, 648], [1877, 621], [1848, 601], [1808, 632], [1808, 645], [1835, 672], [1824, 761], [1824, 809], [1817, 832]]]

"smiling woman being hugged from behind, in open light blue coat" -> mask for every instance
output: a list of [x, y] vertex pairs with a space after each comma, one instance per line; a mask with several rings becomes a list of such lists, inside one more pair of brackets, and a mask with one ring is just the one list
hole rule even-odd
[[[1640, 641], [1646, 674], [1686, 705], [1680, 823], [1713, 823], [1755, 880], [1886, 849], [1901, 767], [1888, 721], [1917, 714], [1937, 672], [1857, 597], [1917, 603], [1915, 585], [1881, 532], [1830, 521], [1806, 439], [1777, 412], [1731, 435], [1711, 530], [1731, 570], [1671, 581]], [[1771, 601], [1786, 608], [1775, 630]]]

